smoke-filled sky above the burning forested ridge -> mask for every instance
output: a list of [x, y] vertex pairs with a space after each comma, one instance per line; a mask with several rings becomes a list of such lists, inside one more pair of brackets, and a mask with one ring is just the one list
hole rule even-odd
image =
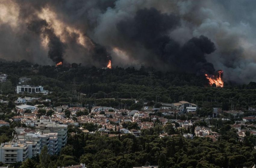
[[0, 58], [256, 81], [256, 1], [0, 0]]

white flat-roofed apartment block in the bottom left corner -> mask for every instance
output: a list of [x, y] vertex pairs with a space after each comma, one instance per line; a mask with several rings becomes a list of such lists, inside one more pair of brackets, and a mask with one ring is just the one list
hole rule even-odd
[[26, 143], [11, 142], [2, 143], [0, 146], [0, 161], [3, 163], [15, 163], [25, 161], [29, 157], [29, 147]]

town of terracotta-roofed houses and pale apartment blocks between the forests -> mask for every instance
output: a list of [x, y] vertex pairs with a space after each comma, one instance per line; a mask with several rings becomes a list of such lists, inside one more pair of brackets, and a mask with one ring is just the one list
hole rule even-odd
[[[2, 83], [6, 82], [7, 76], [0, 75]], [[222, 107], [199, 107], [188, 101], [161, 103], [157, 98], [148, 102], [120, 99], [132, 101], [133, 106], [137, 104], [137, 110], [131, 110], [127, 104], [119, 108], [97, 106], [96, 103], [57, 106], [47, 98], [52, 92], [44, 90], [43, 86], [23, 85], [29, 80], [31, 78], [19, 78], [15, 91], [19, 97], [6, 101], [8, 95], [2, 95], [0, 100], [2, 108], [8, 108], [6, 113], [1, 113], [5, 119], [0, 121], [0, 162], [8, 166], [37, 157], [43, 150], [47, 150], [48, 155], [59, 155], [68, 137], [74, 138], [78, 134], [119, 139], [124, 135], [135, 138], [157, 135], [160, 139], [182, 136], [188, 140], [206, 138], [210, 142], [225, 139], [230, 132], [238, 142], [256, 135], [253, 107], [223, 110]], [[66, 166], [88, 167], [86, 163]]]

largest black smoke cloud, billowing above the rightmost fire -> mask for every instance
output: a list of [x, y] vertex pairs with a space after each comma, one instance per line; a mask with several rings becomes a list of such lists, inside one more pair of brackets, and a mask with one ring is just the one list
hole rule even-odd
[[[146, 57], [136, 55], [136, 58], [147, 65], [158, 66], [165, 64], [176, 71], [189, 73], [214, 73], [213, 64], [207, 62], [206, 54], [215, 51], [215, 45], [204, 36], [192, 38], [184, 45], [180, 45], [168, 36], [180, 25], [180, 18], [173, 14], [162, 14], [155, 8], [141, 9], [134, 18], [121, 20], [117, 29], [131, 46], [143, 46], [151, 53]], [[160, 64], [151, 60], [158, 59]], [[167, 69], [169, 70], [169, 69]]]

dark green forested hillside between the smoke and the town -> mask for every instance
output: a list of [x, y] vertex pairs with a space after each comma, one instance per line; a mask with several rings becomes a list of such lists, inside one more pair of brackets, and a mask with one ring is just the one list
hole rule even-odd
[[[97, 104], [116, 108], [132, 105], [137, 99], [143, 102], [155, 101], [175, 103], [189, 101], [204, 107], [222, 107], [229, 110], [256, 106], [256, 83], [244, 85], [225, 83], [224, 88], [211, 87], [205, 76], [178, 72], [160, 72], [152, 67], [126, 69], [98, 69], [73, 63], [70, 66], [32, 65], [20, 62], [0, 62], [0, 72], [8, 74], [8, 81], [1, 84], [2, 99], [13, 101], [18, 97], [15, 87], [19, 77], [32, 78], [27, 83], [42, 85], [52, 91], [42, 98], [51, 99], [54, 106], [60, 104]], [[83, 93], [83, 96], [80, 94]], [[85, 95], [86, 94], [86, 95]], [[23, 96], [31, 96], [24, 94]], [[122, 100], [121, 100], [122, 99]]]

